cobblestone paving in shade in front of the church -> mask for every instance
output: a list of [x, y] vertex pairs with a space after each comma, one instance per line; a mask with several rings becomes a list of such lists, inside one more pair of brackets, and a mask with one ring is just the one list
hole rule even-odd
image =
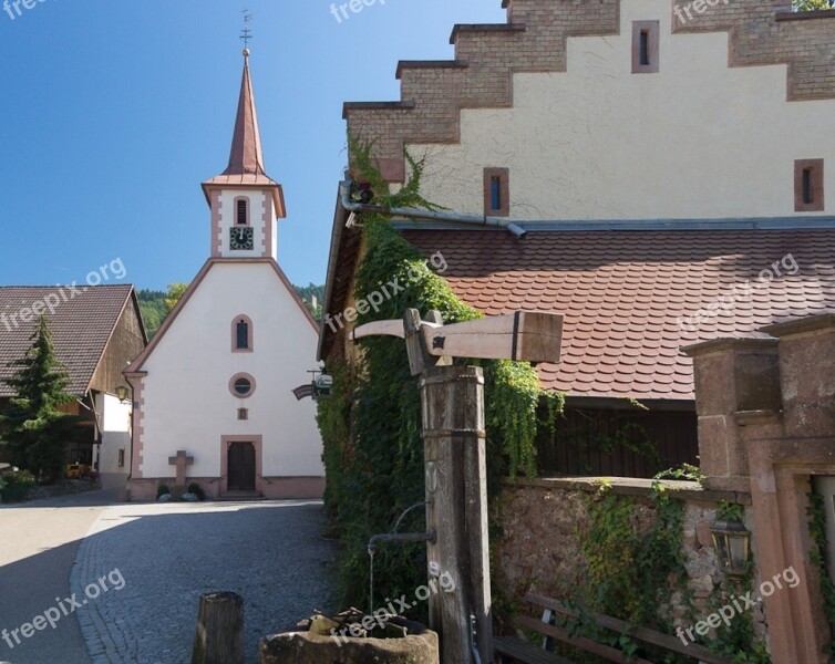
[[243, 595], [246, 661], [257, 662], [261, 636], [327, 609], [322, 525], [317, 501], [106, 508], [72, 574], [76, 598], [90, 598], [78, 616], [93, 664], [189, 662], [199, 595], [220, 590]]

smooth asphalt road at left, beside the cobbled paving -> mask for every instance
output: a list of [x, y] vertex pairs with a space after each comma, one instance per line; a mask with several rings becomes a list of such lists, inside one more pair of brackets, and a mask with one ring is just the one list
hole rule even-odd
[[11, 632], [70, 596], [70, 573], [81, 540], [115, 492], [94, 491], [0, 507], [0, 663], [87, 664], [79, 623], [72, 615], [29, 639]]

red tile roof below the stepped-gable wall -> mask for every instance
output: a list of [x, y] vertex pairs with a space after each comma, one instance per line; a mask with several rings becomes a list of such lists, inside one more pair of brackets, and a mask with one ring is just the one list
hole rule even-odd
[[[441, 251], [452, 289], [485, 314], [564, 313], [561, 361], [538, 371], [543, 387], [574, 396], [691, 400], [692, 361], [681, 346], [835, 312], [835, 228], [403, 236], [427, 257]], [[797, 269], [787, 259], [781, 277], [761, 282], [787, 255]]]

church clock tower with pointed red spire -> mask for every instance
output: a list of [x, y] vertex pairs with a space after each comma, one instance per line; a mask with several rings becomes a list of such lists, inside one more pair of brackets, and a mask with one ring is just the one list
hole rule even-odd
[[278, 259], [276, 219], [286, 217], [285, 199], [281, 185], [264, 169], [248, 49], [229, 165], [203, 183], [203, 190], [212, 208], [213, 258]]

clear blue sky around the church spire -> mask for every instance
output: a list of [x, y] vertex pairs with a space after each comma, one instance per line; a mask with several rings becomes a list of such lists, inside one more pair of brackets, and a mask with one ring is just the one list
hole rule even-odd
[[[11, 1], [11, 0], [10, 0]], [[341, 23], [330, 0], [0, 0], [0, 284], [83, 281], [121, 258], [164, 289], [208, 256], [199, 183], [226, 167], [241, 10], [267, 172], [288, 218], [279, 262], [324, 281], [344, 101], [400, 96], [398, 60], [453, 56], [455, 23], [504, 22], [501, 0], [380, 0]]]

